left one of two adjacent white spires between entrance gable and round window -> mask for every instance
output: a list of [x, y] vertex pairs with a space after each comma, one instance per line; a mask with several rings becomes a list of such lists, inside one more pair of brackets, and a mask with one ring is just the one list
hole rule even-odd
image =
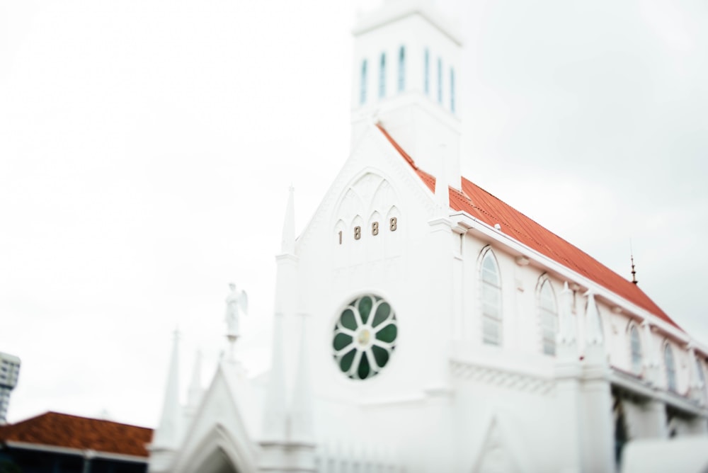
[[282, 314], [273, 321], [273, 356], [265, 392], [263, 440], [287, 438], [287, 406], [285, 403], [285, 360], [282, 354]]

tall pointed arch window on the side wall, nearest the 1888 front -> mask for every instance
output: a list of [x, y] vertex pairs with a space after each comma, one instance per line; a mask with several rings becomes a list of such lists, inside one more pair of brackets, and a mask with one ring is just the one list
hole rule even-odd
[[480, 279], [482, 340], [490, 345], [501, 345], [501, 277], [491, 249], [482, 256]]

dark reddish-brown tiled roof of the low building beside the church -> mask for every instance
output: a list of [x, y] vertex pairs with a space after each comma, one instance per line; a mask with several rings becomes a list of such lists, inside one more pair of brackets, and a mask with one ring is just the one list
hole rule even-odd
[[137, 457], [148, 456], [145, 445], [151, 440], [152, 428], [57, 412], [47, 412], [26, 421], [0, 426], [2, 443], [36, 443]]

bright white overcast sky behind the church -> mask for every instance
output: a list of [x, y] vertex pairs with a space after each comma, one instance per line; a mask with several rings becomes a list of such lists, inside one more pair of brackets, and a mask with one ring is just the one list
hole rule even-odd
[[[263, 369], [287, 188], [302, 229], [348, 156], [350, 30], [375, 4], [0, 0], [9, 421], [154, 426], [171, 332], [206, 384], [230, 281]], [[464, 175], [627, 277], [632, 239], [640, 287], [708, 343], [706, 4], [440, 6], [466, 45]]]

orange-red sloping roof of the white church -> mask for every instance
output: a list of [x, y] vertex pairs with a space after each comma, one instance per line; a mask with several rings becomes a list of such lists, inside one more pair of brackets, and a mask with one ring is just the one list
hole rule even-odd
[[[401, 156], [406, 159], [406, 162], [411, 165], [428, 188], [434, 192], [435, 178], [418, 169], [411, 156], [396, 143], [382, 125], [377, 124], [377, 127]], [[607, 266], [588, 255], [588, 253], [545, 229], [466, 178], [462, 178], [462, 192], [450, 188], [450, 207], [458, 212], [467, 212], [472, 217], [490, 226], [501, 225], [501, 231], [507, 236], [513, 237], [521, 244], [542, 253], [544, 256], [556, 261], [556, 263], [560, 263], [566, 268], [570, 268], [576, 273], [595, 281], [595, 283], [605, 287], [607, 290], [615, 292], [615, 294], [624, 297], [629, 302], [680, 329], [636, 284], [622, 278], [622, 276], [607, 268]]]

